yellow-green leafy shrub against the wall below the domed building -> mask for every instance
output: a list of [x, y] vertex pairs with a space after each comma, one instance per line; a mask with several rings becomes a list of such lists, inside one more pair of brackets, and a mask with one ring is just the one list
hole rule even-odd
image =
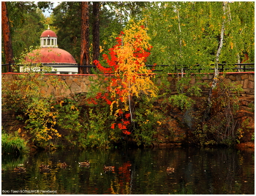
[[[22, 56], [25, 57], [26, 53]], [[66, 86], [56, 76], [45, 77], [45, 72], [51, 69], [49, 67], [31, 65], [24, 62], [24, 58], [20, 58], [20, 64], [28, 65], [23, 66], [23, 71], [27, 73], [17, 74], [12, 82], [2, 83], [2, 92], [7, 97], [2, 102], [2, 108], [20, 113], [18, 119], [25, 122], [31, 141], [38, 147], [49, 148], [53, 146], [53, 140], [60, 138], [61, 134], [54, 128], [58, 113], [53, 107], [56, 101], [52, 95], [42, 93], [42, 89], [53, 87], [59, 90]], [[15, 69], [19, 71], [20, 66], [16, 66]]]

